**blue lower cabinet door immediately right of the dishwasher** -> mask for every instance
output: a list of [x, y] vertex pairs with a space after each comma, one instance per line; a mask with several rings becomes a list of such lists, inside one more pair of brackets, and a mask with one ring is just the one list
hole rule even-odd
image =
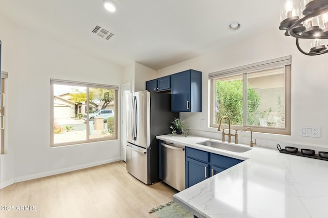
[[186, 158], [186, 188], [210, 177], [210, 165]]

